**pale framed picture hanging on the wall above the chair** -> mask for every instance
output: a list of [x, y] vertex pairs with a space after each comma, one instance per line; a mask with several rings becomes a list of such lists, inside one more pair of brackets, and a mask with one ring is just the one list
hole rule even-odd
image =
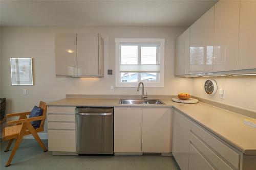
[[32, 58], [11, 58], [12, 85], [33, 85]]

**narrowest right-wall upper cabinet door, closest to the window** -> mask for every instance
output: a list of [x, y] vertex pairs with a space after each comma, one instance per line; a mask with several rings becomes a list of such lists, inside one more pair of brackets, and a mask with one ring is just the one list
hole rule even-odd
[[175, 41], [175, 76], [189, 74], [190, 28]]

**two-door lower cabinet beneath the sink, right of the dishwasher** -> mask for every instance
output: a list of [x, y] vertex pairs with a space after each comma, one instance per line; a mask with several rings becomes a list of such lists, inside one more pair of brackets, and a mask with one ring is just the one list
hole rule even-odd
[[115, 107], [114, 152], [169, 153], [171, 108]]

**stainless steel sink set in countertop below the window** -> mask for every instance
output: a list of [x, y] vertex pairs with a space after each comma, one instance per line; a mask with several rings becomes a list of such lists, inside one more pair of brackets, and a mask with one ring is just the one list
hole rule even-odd
[[119, 104], [130, 104], [130, 105], [138, 105], [138, 104], [152, 104], [152, 105], [165, 105], [162, 101], [159, 99], [146, 99], [146, 100], [140, 100], [140, 99], [121, 99], [119, 101]]

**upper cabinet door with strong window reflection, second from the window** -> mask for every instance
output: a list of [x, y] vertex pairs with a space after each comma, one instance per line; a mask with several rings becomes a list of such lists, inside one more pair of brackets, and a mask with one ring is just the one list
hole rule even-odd
[[189, 72], [212, 72], [214, 46], [214, 7], [190, 27]]

